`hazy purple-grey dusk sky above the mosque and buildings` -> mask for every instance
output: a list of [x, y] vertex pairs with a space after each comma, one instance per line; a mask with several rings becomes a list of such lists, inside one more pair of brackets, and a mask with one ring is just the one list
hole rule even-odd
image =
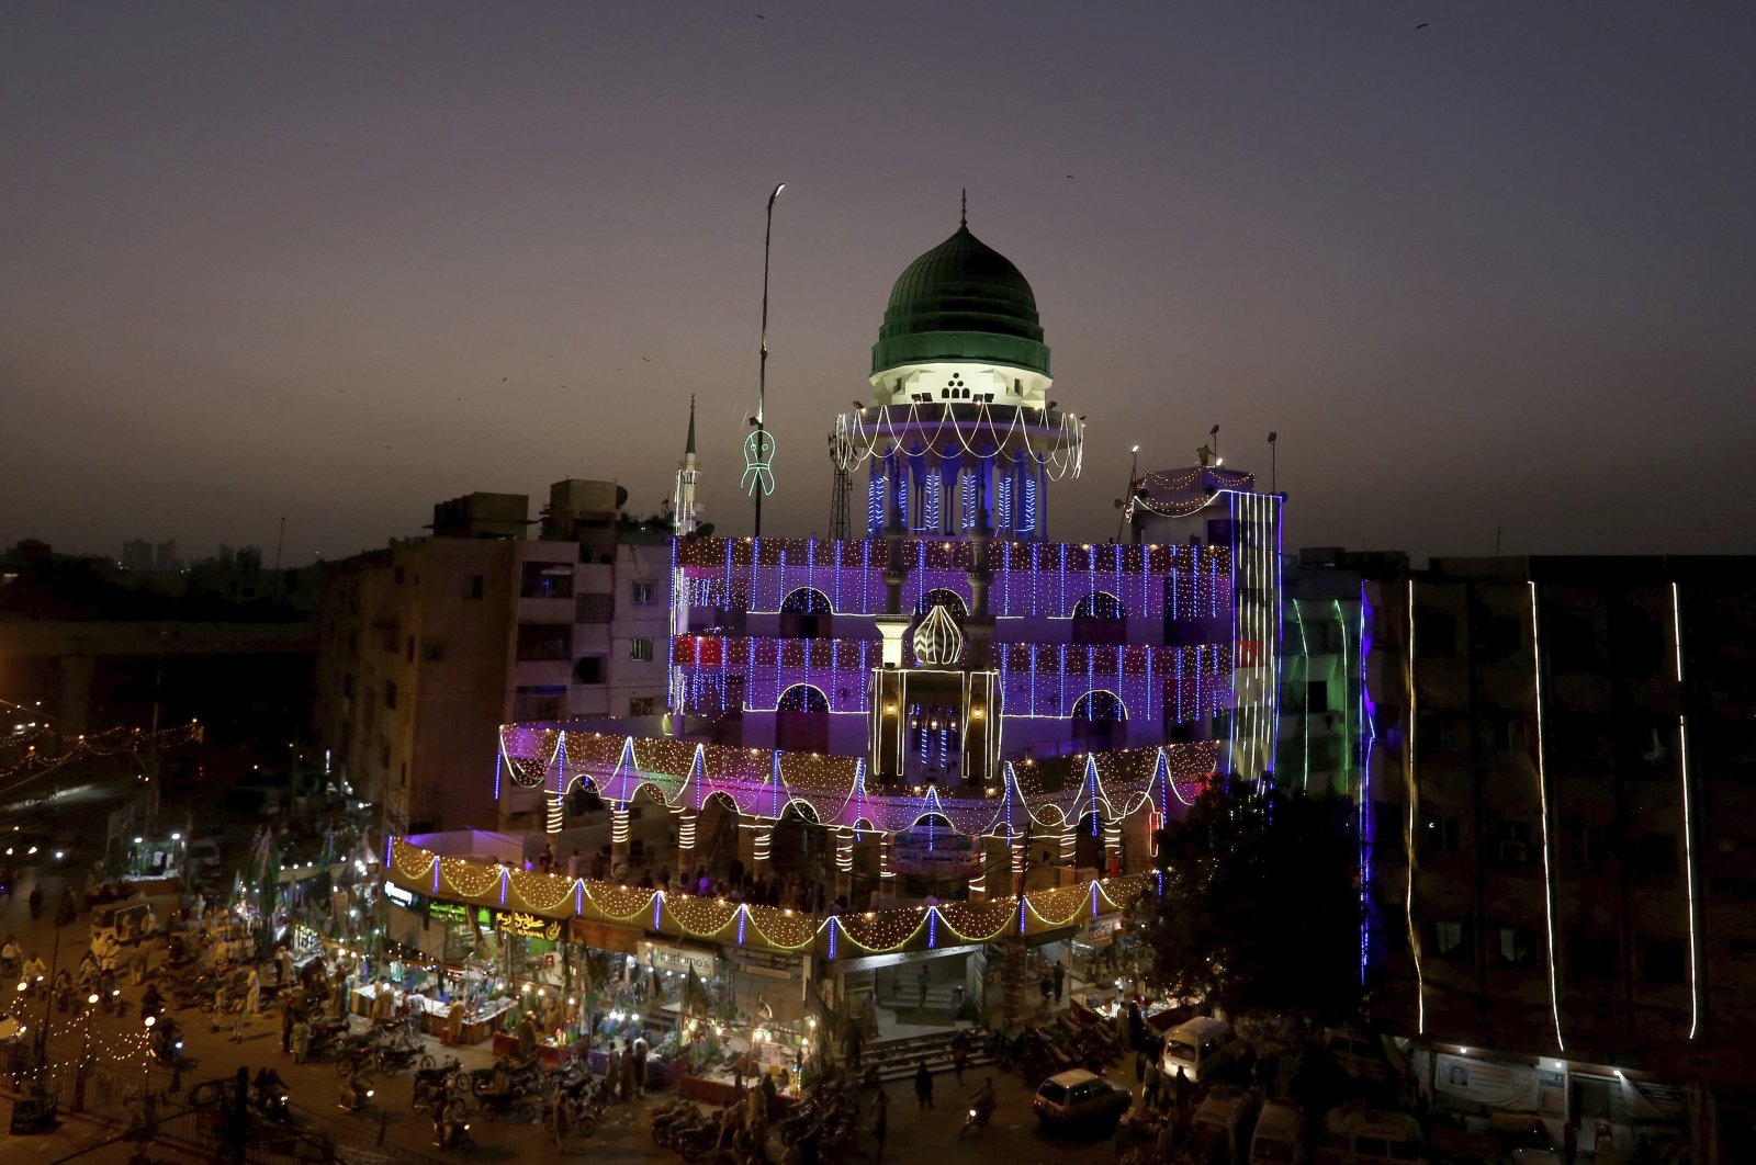
[[[1422, 26], [1424, 25], [1424, 26]], [[1287, 546], [1756, 553], [1756, 4], [11, 4], [0, 546], [286, 565], [613, 477], [829, 523], [969, 226], [1087, 416], [1050, 533], [1220, 425]]]

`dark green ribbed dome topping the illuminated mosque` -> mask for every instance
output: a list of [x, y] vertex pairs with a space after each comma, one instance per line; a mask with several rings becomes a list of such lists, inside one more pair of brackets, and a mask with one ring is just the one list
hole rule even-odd
[[1048, 346], [1031, 284], [968, 226], [897, 277], [873, 344], [874, 375], [936, 360], [978, 360], [1048, 375]]

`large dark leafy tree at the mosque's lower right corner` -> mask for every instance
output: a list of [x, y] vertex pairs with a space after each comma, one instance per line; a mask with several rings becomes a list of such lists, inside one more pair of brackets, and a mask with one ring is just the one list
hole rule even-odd
[[1213, 781], [1159, 832], [1164, 895], [1143, 911], [1155, 986], [1227, 1011], [1359, 1007], [1352, 805]]

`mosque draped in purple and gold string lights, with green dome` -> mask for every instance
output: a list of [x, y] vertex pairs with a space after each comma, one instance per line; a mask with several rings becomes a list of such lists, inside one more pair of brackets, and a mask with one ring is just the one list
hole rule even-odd
[[1159, 825], [1273, 767], [1284, 497], [1203, 451], [1133, 477], [1126, 540], [1052, 540], [1078, 390], [968, 221], [897, 277], [867, 381], [829, 423], [831, 539], [704, 535], [692, 407], [667, 709], [506, 725], [483, 779], [553, 863], [390, 839], [392, 884], [773, 1025], [997, 1016], [1020, 960], [1110, 986], [1076, 954], [1162, 893]]

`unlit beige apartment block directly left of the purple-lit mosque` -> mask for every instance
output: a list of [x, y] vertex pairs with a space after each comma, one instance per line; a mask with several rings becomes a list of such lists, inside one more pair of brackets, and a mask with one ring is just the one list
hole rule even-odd
[[[664, 709], [671, 547], [620, 521], [613, 482], [434, 505], [432, 537], [330, 567], [316, 730], [393, 833], [497, 826], [499, 726]], [[507, 819], [507, 825], [518, 825]]]

